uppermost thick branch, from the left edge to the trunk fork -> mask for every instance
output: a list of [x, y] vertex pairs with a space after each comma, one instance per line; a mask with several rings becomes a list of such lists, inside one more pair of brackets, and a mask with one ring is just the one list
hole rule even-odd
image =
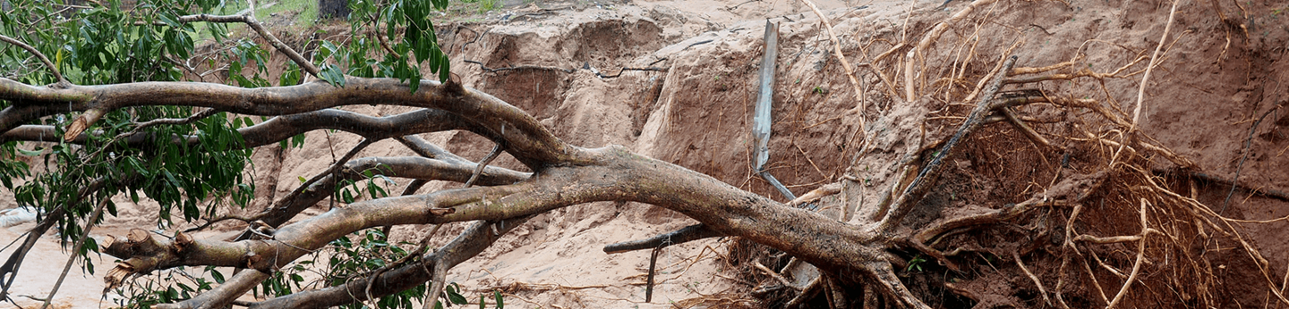
[[[553, 162], [585, 164], [570, 156], [565, 144], [532, 116], [491, 95], [458, 84], [422, 81], [416, 93], [397, 79], [348, 77], [345, 86], [308, 82], [296, 86], [244, 89], [206, 82], [133, 82], [66, 89], [31, 86], [0, 79], [0, 99], [15, 106], [67, 106], [72, 111], [134, 106], [193, 106], [244, 115], [278, 116], [352, 104], [392, 104], [443, 109], [476, 124], [485, 136], [507, 142], [517, 160], [538, 167]], [[0, 125], [22, 120], [21, 115], [0, 112]], [[93, 124], [88, 122], [86, 125]], [[8, 131], [9, 127], [3, 127]]]

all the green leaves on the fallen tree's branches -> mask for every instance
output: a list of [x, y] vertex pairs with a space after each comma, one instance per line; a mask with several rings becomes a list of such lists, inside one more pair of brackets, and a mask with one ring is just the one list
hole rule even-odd
[[[286, 63], [277, 76], [269, 76], [271, 50], [247, 35], [245, 27], [222, 23], [186, 23], [184, 15], [236, 12], [227, 0], [121, 0], [64, 1], [10, 0], [12, 10], [0, 14], [0, 35], [27, 42], [48, 55], [68, 81], [79, 85], [139, 81], [184, 81], [197, 79], [201, 70], [226, 71], [227, 82], [241, 88], [298, 85], [305, 72]], [[80, 3], [80, 1], [77, 1]], [[322, 40], [312, 50], [318, 79], [344, 86], [345, 76], [396, 77], [418, 91], [422, 70], [449, 76], [449, 58], [441, 50], [432, 17], [447, 6], [447, 0], [352, 0], [351, 27], [356, 33], [339, 41]], [[242, 30], [238, 32], [238, 30]], [[240, 39], [238, 39], [240, 37]], [[206, 40], [211, 39], [211, 40]], [[201, 50], [214, 50], [197, 53]], [[192, 64], [196, 63], [196, 64]], [[226, 66], [223, 63], [227, 63]], [[196, 67], [195, 67], [196, 66]], [[0, 76], [30, 85], [49, 85], [57, 79], [26, 50], [0, 44]], [[223, 75], [222, 75], [223, 76]], [[14, 106], [0, 100], [0, 108]], [[130, 107], [110, 111], [94, 122], [82, 143], [44, 142], [0, 143], [0, 185], [12, 191], [21, 206], [39, 210], [41, 220], [52, 220], [64, 245], [82, 237], [82, 221], [98, 202], [116, 215], [112, 197], [126, 196], [134, 202], [152, 200], [160, 205], [157, 228], [217, 218], [227, 206], [245, 207], [254, 197], [255, 184], [245, 179], [251, 149], [237, 129], [257, 124], [253, 117], [226, 112], [188, 118], [202, 111], [192, 107]], [[76, 115], [55, 115], [31, 121], [50, 125], [64, 134]], [[179, 125], [143, 125], [153, 120], [184, 120]], [[259, 121], [266, 118], [260, 117]], [[146, 136], [138, 143], [138, 136]], [[287, 140], [303, 145], [303, 134]], [[128, 143], [133, 139], [131, 143]], [[192, 139], [196, 143], [182, 143]], [[32, 175], [31, 164], [45, 173]], [[363, 194], [388, 196], [392, 180], [366, 171], [365, 183], [339, 185], [336, 197], [353, 202]], [[22, 182], [21, 179], [24, 179]], [[102, 220], [102, 219], [101, 219]], [[387, 242], [379, 230], [358, 232], [333, 243], [334, 255], [326, 268], [325, 285], [339, 285], [384, 267], [385, 259], [407, 252]], [[89, 254], [98, 251], [93, 238], [81, 248], [84, 268], [93, 273]], [[304, 286], [300, 276], [312, 264], [304, 260], [277, 272], [257, 290], [264, 295], [285, 295]], [[165, 277], [120, 290], [122, 306], [147, 308], [151, 304], [188, 299], [222, 283], [223, 274], [206, 268], [202, 276], [168, 270]], [[174, 278], [189, 278], [177, 282]], [[208, 279], [209, 278], [209, 279]], [[378, 301], [382, 308], [410, 308], [424, 297], [418, 287]], [[498, 295], [498, 300], [500, 295]], [[360, 308], [361, 304], [353, 305]]]

